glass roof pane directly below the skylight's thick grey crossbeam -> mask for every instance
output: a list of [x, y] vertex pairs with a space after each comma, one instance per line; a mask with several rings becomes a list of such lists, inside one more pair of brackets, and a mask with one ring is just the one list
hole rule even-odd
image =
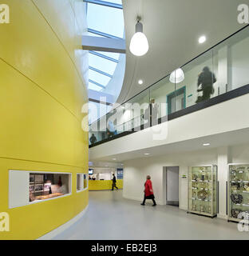
[[89, 66], [93, 66], [97, 70], [104, 71], [105, 73], [113, 74], [117, 63], [98, 57], [97, 55], [89, 54]]

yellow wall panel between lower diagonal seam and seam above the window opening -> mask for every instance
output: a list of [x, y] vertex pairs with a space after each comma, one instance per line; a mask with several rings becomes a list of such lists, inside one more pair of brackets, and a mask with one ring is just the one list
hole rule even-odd
[[[0, 61], [0, 156], [75, 165], [88, 145], [79, 122], [64, 106]], [[82, 136], [83, 138], [79, 138]], [[80, 143], [79, 143], [80, 142]]]

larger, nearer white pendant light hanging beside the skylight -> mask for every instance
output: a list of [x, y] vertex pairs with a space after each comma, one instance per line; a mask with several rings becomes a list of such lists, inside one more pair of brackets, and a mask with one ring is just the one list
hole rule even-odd
[[143, 33], [143, 24], [139, 20], [136, 23], [136, 33], [132, 36], [129, 49], [136, 56], [143, 56], [148, 52], [148, 40]]

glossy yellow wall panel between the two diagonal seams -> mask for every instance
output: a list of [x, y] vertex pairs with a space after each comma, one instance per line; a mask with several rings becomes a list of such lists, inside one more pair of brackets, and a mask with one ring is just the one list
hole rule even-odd
[[46, 21], [45, 14], [41, 14], [30, 0], [9, 0], [8, 5], [11, 22], [0, 26], [0, 33], [5, 35], [5, 40], [0, 41], [0, 58], [48, 91], [81, 119], [84, 101], [80, 95], [85, 95], [85, 83], [64, 44]]

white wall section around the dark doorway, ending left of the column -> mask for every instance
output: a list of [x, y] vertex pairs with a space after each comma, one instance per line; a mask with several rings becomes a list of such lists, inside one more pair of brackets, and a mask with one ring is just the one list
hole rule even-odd
[[[217, 164], [217, 150], [200, 150], [191, 153], [168, 154], [156, 158], [140, 158], [124, 162], [124, 198], [141, 200], [144, 196], [144, 182], [152, 177], [156, 201], [166, 204], [164, 166], [180, 166], [180, 177], [187, 174], [188, 166]], [[180, 209], [188, 209], [188, 179], [180, 178]]]

